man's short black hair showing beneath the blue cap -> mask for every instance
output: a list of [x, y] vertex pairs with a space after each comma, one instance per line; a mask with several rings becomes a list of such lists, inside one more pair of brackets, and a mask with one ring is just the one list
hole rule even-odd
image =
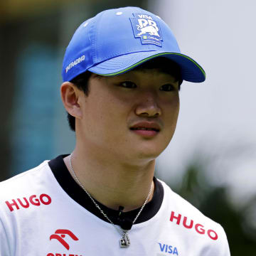
[[[158, 68], [161, 70], [161, 72], [168, 73], [170, 75], [173, 75], [174, 78], [178, 81], [178, 90], [181, 89], [181, 83], [183, 82], [181, 78], [181, 69], [178, 66], [178, 64], [174, 63], [174, 61], [169, 60], [168, 58], [153, 58], [151, 60], [146, 61], [145, 63], [142, 63], [142, 65], [137, 66], [133, 70], [146, 70], [146, 69], [153, 69]], [[90, 79], [90, 76], [92, 73], [89, 71], [85, 71], [85, 73], [82, 73], [73, 80], [70, 80], [78, 89], [82, 90], [86, 96], [89, 95], [89, 86], [88, 81]], [[75, 117], [73, 117], [71, 114], [68, 113], [68, 124], [70, 126], [70, 129], [75, 132]]]

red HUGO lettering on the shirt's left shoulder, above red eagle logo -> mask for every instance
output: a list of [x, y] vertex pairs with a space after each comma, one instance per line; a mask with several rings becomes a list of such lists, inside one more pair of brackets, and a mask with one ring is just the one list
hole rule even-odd
[[41, 194], [38, 198], [38, 196], [36, 195], [32, 195], [29, 198], [23, 197], [22, 199], [17, 198], [12, 199], [11, 202], [6, 201], [6, 205], [8, 206], [9, 210], [13, 211], [13, 210], [19, 210], [20, 206], [23, 208], [28, 208], [29, 206], [33, 205], [33, 206], [40, 206], [41, 203], [43, 203], [44, 205], [48, 205], [51, 203], [51, 198], [50, 196], [48, 196], [47, 194]]

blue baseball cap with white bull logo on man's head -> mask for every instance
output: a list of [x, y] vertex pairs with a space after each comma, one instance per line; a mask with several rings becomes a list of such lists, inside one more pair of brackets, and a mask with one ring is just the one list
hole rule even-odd
[[206, 80], [201, 65], [181, 53], [171, 28], [159, 16], [138, 7], [102, 11], [75, 31], [63, 59], [63, 81], [87, 70], [119, 75], [157, 57], [178, 64], [182, 80]]

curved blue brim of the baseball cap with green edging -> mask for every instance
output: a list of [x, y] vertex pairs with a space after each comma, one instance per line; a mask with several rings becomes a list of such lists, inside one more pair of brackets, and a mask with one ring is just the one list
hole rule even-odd
[[126, 73], [129, 70], [141, 65], [147, 60], [156, 57], [165, 57], [173, 60], [181, 68], [181, 78], [189, 82], [203, 82], [206, 80], [206, 73], [195, 60], [181, 53], [166, 52], [139, 52], [120, 55], [110, 60], [92, 66], [88, 70], [98, 75], [112, 76]]

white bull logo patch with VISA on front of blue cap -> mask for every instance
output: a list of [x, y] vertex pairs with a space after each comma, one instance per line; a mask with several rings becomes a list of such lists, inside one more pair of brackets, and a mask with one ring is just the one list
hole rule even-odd
[[142, 44], [151, 43], [161, 46], [161, 30], [159, 22], [146, 14], [133, 14], [130, 18], [135, 38], [141, 38]]

